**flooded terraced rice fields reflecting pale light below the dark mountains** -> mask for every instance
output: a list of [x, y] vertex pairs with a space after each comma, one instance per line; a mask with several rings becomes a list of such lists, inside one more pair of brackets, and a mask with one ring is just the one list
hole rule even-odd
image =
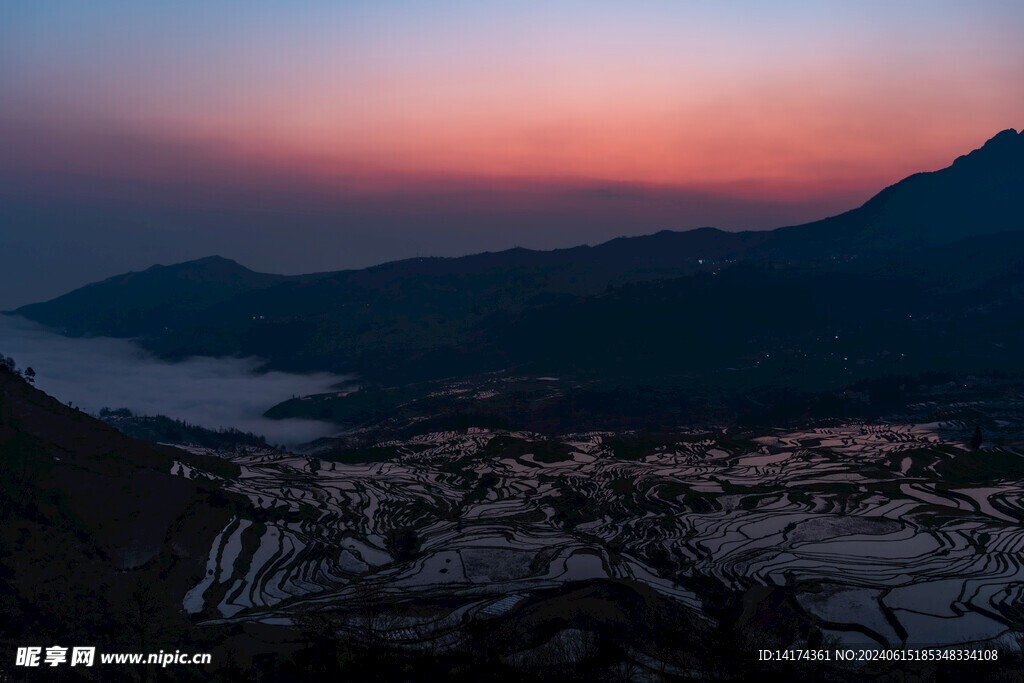
[[851, 424], [625, 450], [612, 434], [552, 447], [469, 430], [382, 443], [394, 457], [368, 464], [233, 457], [227, 487], [261, 513], [220, 531], [183, 606], [282, 623], [368, 591], [443, 601], [389, 627], [413, 642], [587, 579], [636, 580], [699, 612], [687, 586], [700, 577], [788, 586], [847, 644], [994, 639], [1024, 630], [1024, 458], [958, 445], [949, 434], [965, 429]]

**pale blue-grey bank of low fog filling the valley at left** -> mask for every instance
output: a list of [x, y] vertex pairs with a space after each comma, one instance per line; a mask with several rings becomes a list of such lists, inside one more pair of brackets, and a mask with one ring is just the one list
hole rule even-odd
[[0, 353], [12, 356], [23, 371], [35, 370], [37, 387], [92, 415], [101, 408], [127, 408], [211, 429], [233, 427], [289, 445], [337, 430], [313, 420], [268, 420], [263, 412], [293, 394], [331, 391], [348, 381], [329, 373], [257, 374], [256, 358], [166, 362], [124, 339], [73, 339], [2, 314]]

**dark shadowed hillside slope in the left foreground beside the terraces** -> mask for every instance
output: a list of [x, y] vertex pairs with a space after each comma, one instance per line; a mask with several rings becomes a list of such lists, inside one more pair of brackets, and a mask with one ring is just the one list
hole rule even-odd
[[237, 472], [128, 438], [0, 371], [0, 678], [26, 675], [17, 647], [157, 652], [196, 640], [180, 596], [230, 511], [212, 481], [172, 476], [175, 461]]

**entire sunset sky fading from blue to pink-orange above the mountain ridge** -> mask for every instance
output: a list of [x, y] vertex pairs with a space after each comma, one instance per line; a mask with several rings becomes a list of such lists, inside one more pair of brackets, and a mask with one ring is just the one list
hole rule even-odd
[[1022, 35], [1016, 0], [5, 2], [0, 266], [65, 265], [0, 307], [812, 220], [1024, 126]]

